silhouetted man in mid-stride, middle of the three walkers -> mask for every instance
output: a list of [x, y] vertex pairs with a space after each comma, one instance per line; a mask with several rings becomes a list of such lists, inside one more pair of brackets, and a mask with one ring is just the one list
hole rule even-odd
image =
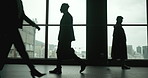
[[56, 68], [49, 73], [61, 74], [62, 66], [61, 61], [66, 59], [74, 59], [78, 61], [81, 65], [81, 70], [85, 70], [86, 64], [80, 59], [75, 53], [74, 49], [71, 47], [71, 42], [75, 41], [74, 31], [73, 31], [73, 17], [68, 12], [69, 5], [67, 3], [63, 3], [61, 5], [61, 13], [63, 13], [63, 17], [60, 22], [60, 31], [58, 35], [58, 49], [57, 49], [57, 65]]

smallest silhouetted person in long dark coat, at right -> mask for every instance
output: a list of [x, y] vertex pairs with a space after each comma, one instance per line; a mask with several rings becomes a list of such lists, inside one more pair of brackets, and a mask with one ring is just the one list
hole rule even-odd
[[129, 66], [125, 64], [127, 60], [127, 46], [126, 46], [126, 35], [124, 29], [122, 28], [123, 17], [117, 16], [117, 22], [114, 26], [113, 32], [113, 43], [111, 57], [113, 60], [121, 60], [122, 69], [130, 69]]

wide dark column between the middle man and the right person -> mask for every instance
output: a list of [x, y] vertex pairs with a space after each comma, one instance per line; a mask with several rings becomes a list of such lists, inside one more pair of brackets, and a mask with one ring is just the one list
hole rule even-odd
[[107, 60], [107, 0], [87, 0], [87, 60], [104, 65]]

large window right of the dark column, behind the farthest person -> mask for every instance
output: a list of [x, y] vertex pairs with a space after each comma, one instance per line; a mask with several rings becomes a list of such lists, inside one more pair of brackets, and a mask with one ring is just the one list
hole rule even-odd
[[108, 58], [111, 59], [113, 25], [123, 16], [128, 59], [148, 59], [146, 0], [108, 0]]

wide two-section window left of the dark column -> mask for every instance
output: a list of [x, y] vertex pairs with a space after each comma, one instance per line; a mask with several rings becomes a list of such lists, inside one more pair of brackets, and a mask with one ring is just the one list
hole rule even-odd
[[[22, 2], [25, 14], [41, 28], [38, 31], [24, 21], [24, 27], [20, 29], [30, 58], [56, 58], [59, 26], [63, 15], [60, 12], [62, 3], [69, 4], [69, 12], [73, 16], [76, 41], [72, 42], [72, 47], [80, 58], [86, 58], [86, 0], [22, 0]], [[11, 48], [9, 58], [20, 58], [14, 46]]]

